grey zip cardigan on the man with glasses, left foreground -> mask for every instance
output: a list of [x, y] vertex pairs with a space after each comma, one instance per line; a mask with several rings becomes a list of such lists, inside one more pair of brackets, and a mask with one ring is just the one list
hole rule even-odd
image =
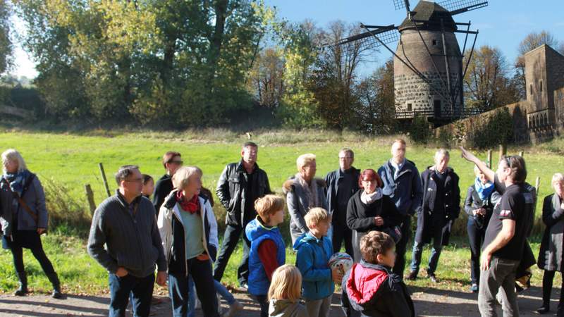
[[123, 266], [131, 275], [144, 278], [154, 273], [155, 263], [159, 271], [166, 271], [166, 259], [153, 204], [145, 197], [137, 197], [132, 204], [136, 203], [133, 217], [119, 192], [102, 201], [94, 211], [87, 249], [109, 273]]

